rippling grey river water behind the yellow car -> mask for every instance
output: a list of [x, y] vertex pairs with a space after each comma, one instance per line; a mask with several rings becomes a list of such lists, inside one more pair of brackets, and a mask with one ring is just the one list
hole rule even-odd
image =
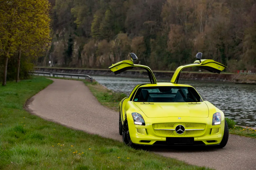
[[[127, 95], [135, 85], [149, 83], [149, 79], [126, 77], [93, 76], [93, 79], [107, 88]], [[170, 80], [157, 79], [158, 82]], [[241, 85], [224, 82], [180, 80], [192, 85], [203, 98], [221, 109], [226, 117], [238, 125], [256, 127], [256, 85]]]

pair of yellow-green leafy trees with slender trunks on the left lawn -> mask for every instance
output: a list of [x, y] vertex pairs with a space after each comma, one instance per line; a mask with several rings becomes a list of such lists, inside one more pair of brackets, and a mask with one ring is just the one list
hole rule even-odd
[[[36, 56], [50, 42], [49, 2], [45, 0], [10, 0], [1, 2], [0, 45], [4, 53], [2, 85], [6, 85], [8, 59], [16, 51]], [[20, 54], [18, 55], [18, 68]], [[18, 75], [17, 75], [18, 80]]]

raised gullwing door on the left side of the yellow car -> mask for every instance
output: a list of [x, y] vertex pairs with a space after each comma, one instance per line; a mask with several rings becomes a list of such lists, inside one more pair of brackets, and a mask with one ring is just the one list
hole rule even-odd
[[115, 74], [120, 74], [121, 72], [133, 69], [134, 67], [140, 67], [140, 68], [145, 69], [148, 72], [150, 82], [152, 84], [156, 84], [157, 80], [156, 80], [156, 77], [154, 76], [152, 70], [148, 66], [134, 64], [134, 61], [138, 59], [134, 53], [130, 53], [130, 56], [132, 58], [132, 61], [131, 60], [120, 61], [120, 62], [115, 63], [112, 66], [110, 66], [109, 69], [112, 72], [114, 72]]

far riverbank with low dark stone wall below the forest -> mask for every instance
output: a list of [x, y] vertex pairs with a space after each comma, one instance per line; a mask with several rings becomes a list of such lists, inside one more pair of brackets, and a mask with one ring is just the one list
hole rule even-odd
[[[74, 68], [58, 68], [58, 67], [34, 67], [38, 72], [56, 72], [68, 74], [88, 74], [90, 76], [114, 76], [114, 73], [109, 69], [74, 69]], [[153, 71], [157, 79], [171, 79], [174, 71]], [[128, 70], [117, 74], [120, 77], [133, 78], [148, 78], [148, 73], [145, 70]], [[222, 81], [235, 82], [241, 84], [256, 84], [256, 74], [232, 74], [221, 73], [214, 74], [211, 72], [186, 72], [183, 71], [179, 77], [180, 80], [208, 80], [208, 81]]]

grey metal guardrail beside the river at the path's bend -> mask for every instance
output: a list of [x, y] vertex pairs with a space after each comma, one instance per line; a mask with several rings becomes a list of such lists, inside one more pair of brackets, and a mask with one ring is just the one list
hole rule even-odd
[[51, 75], [52, 75], [52, 77], [70, 77], [70, 78], [72, 78], [72, 77], [77, 77], [78, 79], [79, 79], [79, 77], [83, 77], [83, 78], [85, 78], [85, 80], [90, 80], [90, 82], [93, 82], [93, 78], [91, 77], [91, 76], [89, 76], [89, 75], [87, 75], [87, 74], [66, 74], [66, 73], [50, 73], [50, 72], [30, 72], [30, 74], [35, 74], [35, 75], [43, 75], [43, 76], [45, 76], [45, 75], [49, 75], [49, 77], [51, 77]]

